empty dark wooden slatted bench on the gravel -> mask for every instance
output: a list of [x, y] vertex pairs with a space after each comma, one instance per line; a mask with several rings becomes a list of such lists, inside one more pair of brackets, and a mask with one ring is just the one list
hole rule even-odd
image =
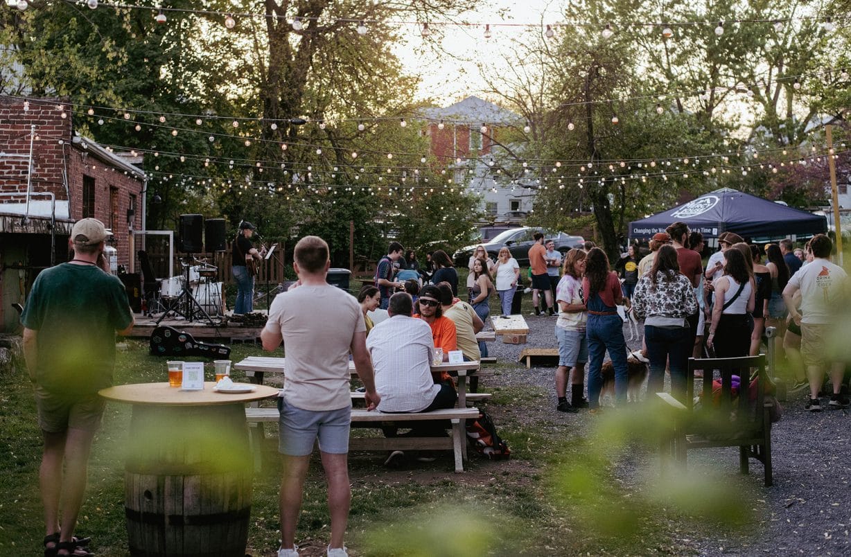
[[[694, 403], [694, 371], [703, 370], [703, 396]], [[713, 392], [713, 370], [717, 370], [720, 389]], [[737, 395], [733, 394], [733, 376], [741, 378]], [[749, 389], [756, 375], [755, 389]], [[773, 406], [765, 395], [768, 385], [765, 355], [740, 358], [688, 359], [685, 402], [667, 393], [656, 393], [674, 416], [671, 430], [663, 436], [660, 452], [663, 462], [676, 458], [683, 467], [688, 451], [722, 446], [739, 447], [742, 474], [748, 473], [750, 458], [762, 462], [765, 485], [772, 485], [771, 419]], [[751, 395], [751, 390], [756, 392]]]

